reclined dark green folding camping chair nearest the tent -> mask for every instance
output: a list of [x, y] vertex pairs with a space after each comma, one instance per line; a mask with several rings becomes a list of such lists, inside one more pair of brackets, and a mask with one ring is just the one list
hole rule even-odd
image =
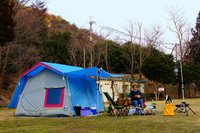
[[[117, 103], [110, 97], [110, 95], [108, 94], [108, 92], [103, 92], [104, 95], [106, 96], [107, 100], [109, 101], [110, 105], [114, 107], [114, 109], [116, 110], [116, 113], [117, 111], [120, 113], [120, 115], [123, 117], [123, 115], [127, 115], [127, 112], [128, 112], [128, 108], [127, 106], [124, 106], [124, 105], [117, 105]], [[115, 114], [115, 110], [113, 110], [111, 107], [110, 109], [112, 110], [110, 112], [110, 114]]]

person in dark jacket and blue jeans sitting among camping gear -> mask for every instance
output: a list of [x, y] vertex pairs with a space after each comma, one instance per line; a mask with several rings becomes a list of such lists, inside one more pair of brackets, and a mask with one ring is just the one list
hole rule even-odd
[[144, 95], [138, 90], [138, 86], [136, 84], [133, 85], [133, 90], [130, 92], [131, 104], [133, 104], [137, 111], [140, 108], [143, 109], [143, 98]]

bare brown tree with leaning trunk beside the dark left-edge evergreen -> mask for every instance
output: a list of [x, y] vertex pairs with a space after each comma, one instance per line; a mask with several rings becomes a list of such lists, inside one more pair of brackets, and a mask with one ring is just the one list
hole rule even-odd
[[[5, 58], [0, 59], [2, 61], [2, 67], [0, 65], [0, 67], [1, 67], [1, 72], [0, 72], [1, 73], [0, 74], [1, 81], [0, 82], [2, 82], [4, 80], [4, 74], [6, 73], [6, 67], [7, 67], [7, 60], [9, 58], [8, 55], [11, 51], [11, 48], [14, 45], [16, 45], [17, 43], [22, 44], [22, 43], [26, 42], [28, 40], [27, 38], [29, 38], [29, 40], [31, 40], [31, 41], [36, 40], [36, 38], [34, 38], [34, 39], [33, 38], [30, 39], [30, 38], [33, 37], [36, 33], [41, 32], [41, 28], [38, 28], [39, 27], [38, 25], [41, 25], [41, 23], [38, 24], [37, 22], [39, 22], [39, 20], [42, 19], [41, 18], [41, 17], [43, 17], [42, 14], [44, 14], [46, 12], [46, 8], [44, 8], [44, 6], [43, 6], [44, 3], [41, 2], [40, 0], [35, 0], [35, 3], [32, 3], [32, 5], [35, 4], [35, 6], [32, 6], [32, 8], [30, 8], [30, 7], [25, 6], [25, 4], [27, 2], [30, 2], [30, 1], [29, 0], [21, 0], [21, 1], [15, 0], [14, 1], [15, 7], [13, 8], [13, 10], [14, 10], [13, 17], [14, 17], [14, 20], [18, 24], [15, 27], [15, 38], [14, 38], [14, 40], [9, 42], [8, 45], [4, 46], [4, 49], [6, 49], [6, 52], [4, 52]], [[34, 10], [34, 12], [33, 12], [33, 10]], [[36, 11], [37, 11], [37, 13], [36, 13]], [[23, 13], [26, 14], [27, 12], [28, 12], [27, 19], [25, 20], [22, 16], [24, 16]], [[29, 23], [28, 20], [31, 20], [32, 23]], [[26, 27], [26, 28], [24, 28], [23, 26]], [[30, 31], [31, 31], [31, 34], [29, 34], [29, 36], [28, 36], [27, 33], [30, 32]], [[37, 32], [34, 32], [34, 31], [37, 31]], [[0, 84], [2, 84], [2, 83], [0, 83]]]

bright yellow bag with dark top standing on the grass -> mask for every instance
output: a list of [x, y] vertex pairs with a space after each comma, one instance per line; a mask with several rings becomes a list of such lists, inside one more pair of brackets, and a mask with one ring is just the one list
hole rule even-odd
[[164, 115], [165, 116], [174, 116], [174, 106], [172, 104], [171, 98], [168, 96], [164, 108]]

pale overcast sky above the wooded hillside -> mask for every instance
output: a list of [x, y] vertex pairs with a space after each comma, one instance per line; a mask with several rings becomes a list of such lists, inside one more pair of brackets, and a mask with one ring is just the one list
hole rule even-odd
[[89, 18], [96, 22], [94, 32], [99, 26], [108, 26], [119, 31], [128, 26], [128, 21], [142, 22], [142, 29], [150, 29], [155, 24], [162, 27], [164, 41], [177, 43], [175, 35], [169, 32], [167, 25], [169, 14], [166, 9], [178, 7], [184, 12], [191, 27], [195, 26], [200, 10], [200, 0], [46, 0], [48, 13], [59, 15], [79, 28], [89, 29]]

